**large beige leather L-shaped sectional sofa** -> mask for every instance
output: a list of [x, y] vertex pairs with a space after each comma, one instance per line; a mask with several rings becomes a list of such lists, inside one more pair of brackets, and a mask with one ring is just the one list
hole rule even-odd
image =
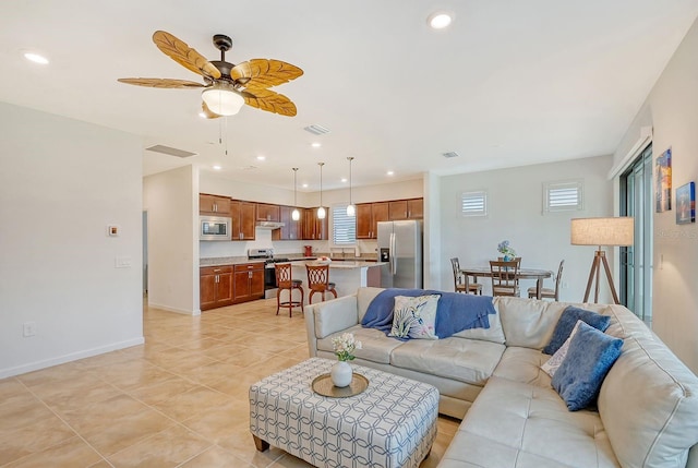
[[462, 419], [440, 467], [698, 467], [698, 377], [626, 308], [575, 304], [610, 315], [624, 345], [598, 409], [571, 412], [540, 369], [568, 303], [494, 298], [489, 329], [399, 341], [360, 325], [382, 290], [308, 307], [310, 355], [334, 358], [351, 332], [356, 363], [436, 386], [440, 412]]

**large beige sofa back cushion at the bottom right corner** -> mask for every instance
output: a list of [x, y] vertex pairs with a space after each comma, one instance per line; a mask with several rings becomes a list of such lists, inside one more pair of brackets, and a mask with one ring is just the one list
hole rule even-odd
[[659, 339], [625, 339], [598, 406], [623, 466], [684, 467], [698, 443], [698, 377]]

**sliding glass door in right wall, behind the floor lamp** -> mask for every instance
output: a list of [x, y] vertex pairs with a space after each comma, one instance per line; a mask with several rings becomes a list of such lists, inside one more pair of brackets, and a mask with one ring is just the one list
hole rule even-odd
[[635, 218], [635, 243], [621, 248], [621, 302], [652, 322], [652, 145], [621, 176], [621, 216]]

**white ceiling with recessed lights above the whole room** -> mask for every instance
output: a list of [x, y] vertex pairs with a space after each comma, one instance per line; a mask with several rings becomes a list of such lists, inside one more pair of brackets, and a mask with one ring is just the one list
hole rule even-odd
[[[437, 10], [455, 14], [446, 31], [426, 26]], [[292, 189], [299, 167], [299, 190], [314, 191], [318, 161], [323, 187], [340, 188], [353, 156], [354, 185], [374, 184], [613, 153], [697, 15], [698, 0], [2, 1], [0, 100], [198, 154], [144, 152], [145, 175], [219, 164], [221, 177]], [[298, 116], [244, 107], [203, 120], [196, 89], [117, 83], [201, 81], [155, 47], [156, 29], [212, 60], [212, 36], [227, 34], [228, 61], [300, 67], [274, 88]]]

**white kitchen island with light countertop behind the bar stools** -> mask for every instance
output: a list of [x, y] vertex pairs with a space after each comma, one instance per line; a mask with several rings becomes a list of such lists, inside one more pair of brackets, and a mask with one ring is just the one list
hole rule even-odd
[[[308, 269], [305, 265], [317, 265], [316, 262], [292, 262], [291, 273], [293, 279], [303, 281], [303, 290], [305, 291], [305, 303], [310, 291], [308, 289]], [[349, 296], [357, 292], [361, 286], [381, 287], [381, 268], [387, 268], [385, 262], [330, 262], [329, 263], [329, 281], [334, 283], [338, 297]], [[313, 296], [313, 302], [321, 302], [317, 293]], [[325, 293], [325, 300], [334, 299], [332, 292]]]

